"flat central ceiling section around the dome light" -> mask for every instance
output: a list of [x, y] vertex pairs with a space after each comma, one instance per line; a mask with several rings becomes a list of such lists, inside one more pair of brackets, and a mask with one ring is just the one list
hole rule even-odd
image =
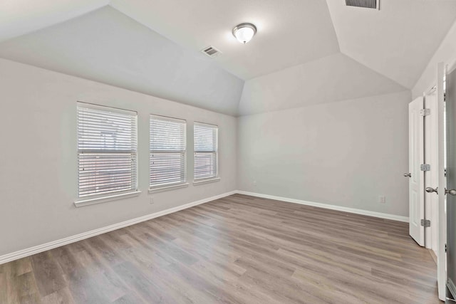
[[[215, 60], [250, 79], [338, 53], [323, 0], [113, 0], [111, 5], [182, 46], [222, 51]], [[257, 26], [242, 45], [232, 35], [239, 23]]]

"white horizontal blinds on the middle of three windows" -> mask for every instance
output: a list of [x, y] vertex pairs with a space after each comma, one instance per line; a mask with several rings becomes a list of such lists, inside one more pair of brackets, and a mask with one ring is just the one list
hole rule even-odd
[[185, 183], [186, 121], [150, 115], [150, 189]]

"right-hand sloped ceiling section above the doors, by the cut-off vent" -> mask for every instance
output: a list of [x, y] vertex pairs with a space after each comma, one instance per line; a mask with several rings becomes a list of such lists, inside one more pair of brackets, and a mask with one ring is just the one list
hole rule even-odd
[[326, 1], [341, 52], [409, 89], [456, 18], [455, 0], [380, 0], [380, 11]]

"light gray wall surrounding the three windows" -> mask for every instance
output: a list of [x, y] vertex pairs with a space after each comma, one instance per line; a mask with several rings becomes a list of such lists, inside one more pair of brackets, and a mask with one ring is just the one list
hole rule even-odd
[[[236, 189], [237, 119], [150, 95], [0, 59], [0, 255]], [[76, 101], [138, 111], [140, 196], [76, 208]], [[149, 204], [149, 115], [219, 125], [220, 182], [154, 194]]]

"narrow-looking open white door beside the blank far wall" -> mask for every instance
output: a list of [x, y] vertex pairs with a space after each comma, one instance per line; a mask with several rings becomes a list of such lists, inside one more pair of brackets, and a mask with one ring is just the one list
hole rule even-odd
[[421, 219], [425, 218], [424, 172], [420, 169], [424, 163], [423, 108], [423, 97], [408, 104], [409, 231], [420, 246], [425, 245], [425, 229], [421, 226]]

